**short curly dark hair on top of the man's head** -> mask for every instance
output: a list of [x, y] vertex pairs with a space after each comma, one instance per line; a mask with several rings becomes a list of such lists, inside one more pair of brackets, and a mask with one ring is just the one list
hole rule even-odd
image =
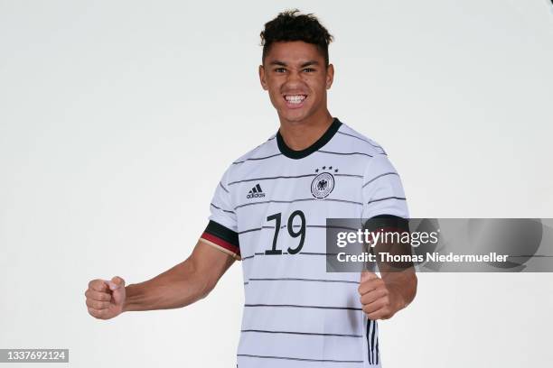
[[287, 10], [277, 15], [275, 19], [265, 23], [265, 29], [259, 34], [265, 60], [271, 45], [277, 41], [304, 41], [314, 44], [323, 54], [328, 66], [328, 44], [333, 41], [333, 35], [323, 27], [314, 14], [301, 14], [298, 9]]

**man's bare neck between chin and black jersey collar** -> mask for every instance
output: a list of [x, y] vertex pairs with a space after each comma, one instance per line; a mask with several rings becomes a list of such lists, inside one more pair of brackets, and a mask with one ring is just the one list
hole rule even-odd
[[333, 116], [324, 109], [321, 114], [314, 114], [300, 121], [288, 121], [280, 118], [280, 135], [286, 145], [301, 151], [315, 143], [333, 123]]

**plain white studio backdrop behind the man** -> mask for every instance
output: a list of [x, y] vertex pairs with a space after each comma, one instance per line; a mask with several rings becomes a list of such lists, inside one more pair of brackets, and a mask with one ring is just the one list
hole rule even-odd
[[[411, 216], [553, 216], [548, 0], [0, 0], [0, 348], [234, 366], [239, 263], [183, 309], [99, 321], [83, 292], [191, 252], [223, 170], [277, 131], [258, 33], [286, 7], [334, 34], [330, 111], [386, 148]], [[419, 275], [384, 366], [549, 367], [552, 281]]]

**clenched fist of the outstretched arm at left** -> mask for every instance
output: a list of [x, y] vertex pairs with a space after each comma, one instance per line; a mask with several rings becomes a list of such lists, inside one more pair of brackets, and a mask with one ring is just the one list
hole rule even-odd
[[85, 297], [90, 316], [98, 319], [117, 317], [123, 311], [125, 281], [118, 276], [111, 281], [90, 281]]

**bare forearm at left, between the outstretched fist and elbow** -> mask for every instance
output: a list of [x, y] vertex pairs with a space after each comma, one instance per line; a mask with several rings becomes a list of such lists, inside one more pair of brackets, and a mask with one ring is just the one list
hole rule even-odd
[[186, 260], [154, 279], [128, 285], [123, 311], [182, 308], [204, 298], [211, 282]]

